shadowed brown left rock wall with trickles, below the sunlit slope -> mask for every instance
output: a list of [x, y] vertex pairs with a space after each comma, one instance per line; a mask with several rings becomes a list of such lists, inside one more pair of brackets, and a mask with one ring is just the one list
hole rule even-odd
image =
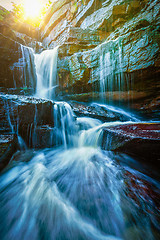
[[0, 87], [32, 88], [36, 85], [33, 50], [0, 33]]

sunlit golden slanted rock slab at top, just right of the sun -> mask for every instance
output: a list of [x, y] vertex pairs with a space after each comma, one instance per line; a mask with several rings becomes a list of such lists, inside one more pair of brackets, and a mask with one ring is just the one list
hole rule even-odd
[[70, 27], [79, 27], [82, 20], [89, 12], [91, 13], [91, 10], [93, 11], [94, 4], [95, 0], [54, 2], [42, 26], [43, 43], [49, 45], [52, 41], [57, 40], [61, 34], [63, 36]]

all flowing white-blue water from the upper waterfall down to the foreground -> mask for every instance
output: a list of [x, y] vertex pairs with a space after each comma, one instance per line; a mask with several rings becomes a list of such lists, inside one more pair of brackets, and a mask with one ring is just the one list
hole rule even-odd
[[[54, 98], [57, 51], [58, 47], [35, 55], [38, 97]], [[152, 213], [158, 210], [144, 189], [150, 184], [158, 193], [159, 183], [120, 165], [120, 158], [128, 161], [125, 155], [101, 149], [104, 127], [138, 119], [99, 104], [127, 119], [103, 123], [77, 117], [66, 102], [51, 102], [54, 146], [16, 153], [0, 176], [0, 239], [156, 239], [160, 229]], [[31, 141], [37, 118], [35, 111]]]

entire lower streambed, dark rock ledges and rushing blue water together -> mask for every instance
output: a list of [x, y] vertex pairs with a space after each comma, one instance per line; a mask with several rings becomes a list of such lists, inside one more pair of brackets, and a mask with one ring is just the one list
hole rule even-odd
[[[159, 238], [159, 123], [137, 122], [134, 114], [99, 103], [6, 94], [0, 102], [2, 239], [13, 233], [62, 239], [64, 226], [70, 240]], [[8, 215], [2, 218], [6, 210], [16, 226], [23, 218], [18, 235]], [[47, 228], [30, 225], [42, 217]]]

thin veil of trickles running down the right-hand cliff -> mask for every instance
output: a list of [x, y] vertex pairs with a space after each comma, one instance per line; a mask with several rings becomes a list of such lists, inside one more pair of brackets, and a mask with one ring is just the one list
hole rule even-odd
[[129, 97], [131, 86], [127, 74], [123, 72], [124, 61], [121, 39], [112, 41], [109, 46], [102, 44], [97, 47], [97, 51], [99, 52], [101, 102], [106, 102], [107, 98], [111, 103], [114, 99], [114, 92], [117, 95], [116, 100], [120, 100], [122, 92], [128, 92]]

